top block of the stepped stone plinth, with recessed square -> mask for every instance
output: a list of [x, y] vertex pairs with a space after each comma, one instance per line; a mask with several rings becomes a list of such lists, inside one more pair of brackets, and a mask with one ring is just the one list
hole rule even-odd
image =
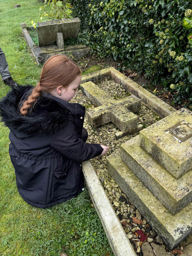
[[179, 178], [192, 168], [192, 112], [182, 108], [140, 131], [140, 146]]

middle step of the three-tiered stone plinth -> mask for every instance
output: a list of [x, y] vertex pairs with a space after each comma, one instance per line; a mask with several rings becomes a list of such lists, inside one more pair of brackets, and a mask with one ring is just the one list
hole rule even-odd
[[140, 147], [139, 135], [121, 145], [121, 159], [170, 213], [192, 201], [192, 171], [175, 179]]

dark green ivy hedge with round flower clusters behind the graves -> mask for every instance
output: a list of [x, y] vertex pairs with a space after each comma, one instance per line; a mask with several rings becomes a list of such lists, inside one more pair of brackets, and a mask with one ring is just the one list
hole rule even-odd
[[[182, 98], [192, 99], [192, 10], [184, 0], [70, 0], [79, 37], [101, 57], [121, 60]], [[184, 20], [184, 26], [183, 26]], [[177, 93], [175, 93], [177, 92]]]

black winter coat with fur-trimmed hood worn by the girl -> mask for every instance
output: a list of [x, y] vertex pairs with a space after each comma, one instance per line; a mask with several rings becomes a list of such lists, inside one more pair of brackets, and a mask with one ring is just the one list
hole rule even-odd
[[28, 116], [20, 105], [33, 86], [17, 86], [0, 101], [2, 121], [10, 129], [9, 154], [17, 188], [29, 204], [45, 208], [81, 193], [81, 162], [102, 153], [99, 144], [81, 140], [85, 108], [43, 93]]

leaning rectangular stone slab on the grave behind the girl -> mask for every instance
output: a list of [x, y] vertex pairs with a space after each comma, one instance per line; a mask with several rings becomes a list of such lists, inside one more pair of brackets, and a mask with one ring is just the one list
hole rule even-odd
[[52, 45], [56, 42], [56, 33], [63, 34], [63, 40], [72, 37], [77, 38], [81, 21], [79, 18], [49, 20], [37, 22], [39, 45]]

